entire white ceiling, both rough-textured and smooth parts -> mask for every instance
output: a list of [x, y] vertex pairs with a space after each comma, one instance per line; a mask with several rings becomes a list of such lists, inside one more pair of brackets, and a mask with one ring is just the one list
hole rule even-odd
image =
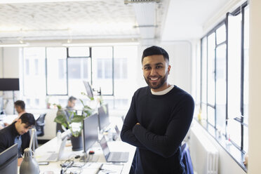
[[[149, 4], [138, 13], [124, 0], [43, 1], [0, 1], [0, 41], [133, 40], [149, 33], [163, 41], [186, 40], [201, 36], [204, 22], [232, 0], [161, 0], [153, 6], [154, 14], [147, 12], [152, 11], [146, 9]], [[145, 15], [145, 24], [139, 15]], [[152, 15], [154, 24], [149, 25], [144, 18], [152, 20]]]

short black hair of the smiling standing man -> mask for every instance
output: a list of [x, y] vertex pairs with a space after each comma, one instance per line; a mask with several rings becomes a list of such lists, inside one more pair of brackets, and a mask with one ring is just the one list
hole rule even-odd
[[142, 54], [142, 62], [143, 62], [143, 59], [149, 55], [163, 55], [163, 58], [165, 59], [165, 61], [169, 62], [167, 51], [165, 51], [163, 48], [161, 48], [159, 46], [151, 46], [149, 48], [146, 48]]

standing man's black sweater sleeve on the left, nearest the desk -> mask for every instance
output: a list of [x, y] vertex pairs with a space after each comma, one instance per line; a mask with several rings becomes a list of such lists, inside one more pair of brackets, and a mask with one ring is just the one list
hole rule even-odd
[[136, 123], [138, 123], [138, 121], [135, 115], [135, 100], [133, 96], [133, 99], [131, 101], [131, 107], [128, 110], [128, 113], [126, 115], [121, 129], [121, 140], [123, 142], [128, 142], [128, 144], [131, 144], [135, 147], [147, 149], [144, 145], [140, 143], [140, 141], [133, 134], [133, 126], [135, 126]]

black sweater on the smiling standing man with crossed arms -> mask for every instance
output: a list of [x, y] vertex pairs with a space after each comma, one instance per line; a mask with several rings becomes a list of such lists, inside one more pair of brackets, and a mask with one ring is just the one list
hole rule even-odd
[[193, 113], [192, 96], [177, 86], [165, 95], [148, 86], [135, 92], [121, 130], [121, 140], [138, 147], [135, 173], [184, 173], [180, 145]]

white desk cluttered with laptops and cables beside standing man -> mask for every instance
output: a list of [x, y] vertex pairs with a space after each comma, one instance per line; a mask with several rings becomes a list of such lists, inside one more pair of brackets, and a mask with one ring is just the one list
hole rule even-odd
[[[35, 156], [36, 159], [41, 157], [42, 154], [46, 154], [48, 152], [51, 151], [55, 151], [55, 149], [58, 149], [59, 147], [57, 147], [57, 143], [58, 140], [57, 138], [53, 138], [52, 140], [46, 142], [46, 144], [41, 145], [41, 147], [39, 147], [38, 149], [36, 149], [35, 152]], [[70, 141], [67, 141], [67, 143], [70, 143]], [[123, 169], [121, 171], [122, 174], [126, 174], [129, 173], [129, 170], [131, 169], [131, 163], [133, 161], [133, 156], [135, 154], [135, 149], [136, 147], [133, 147], [132, 145], [128, 145], [125, 142], [121, 142], [121, 141], [113, 141], [113, 142], [108, 142], [108, 146], [110, 151], [117, 151], [117, 152], [129, 152], [129, 159], [127, 163], [121, 163], [123, 164]], [[98, 142], [95, 143], [95, 145], [93, 145], [92, 150], [95, 151], [95, 156], [98, 156], [99, 159], [97, 162], [87, 162], [85, 164], [85, 166], [83, 166], [83, 170], [82, 173], [88, 173], [88, 174], [95, 174], [98, 172], [98, 169], [100, 168], [102, 163], [106, 163], [105, 161], [105, 156], [102, 153], [102, 149], [100, 147], [100, 145], [98, 144]], [[53, 171], [55, 174], [59, 173], [60, 174], [60, 170], [61, 170], [61, 166], [60, 163], [64, 162], [65, 159], [73, 159], [75, 162], [79, 161], [79, 159], [74, 159], [74, 156], [76, 155], [83, 155], [83, 151], [78, 151], [78, 152], [73, 152], [72, 151], [72, 146], [69, 147], [65, 147], [64, 150], [64, 155], [62, 156], [62, 161], [57, 161], [57, 162], [50, 162], [48, 165], [46, 166], [39, 166], [40, 168], [40, 173], [44, 173], [46, 171]], [[78, 163], [78, 162], [77, 162]], [[80, 162], [79, 162], [80, 163]], [[83, 165], [84, 163], [81, 162], [81, 165]]]

